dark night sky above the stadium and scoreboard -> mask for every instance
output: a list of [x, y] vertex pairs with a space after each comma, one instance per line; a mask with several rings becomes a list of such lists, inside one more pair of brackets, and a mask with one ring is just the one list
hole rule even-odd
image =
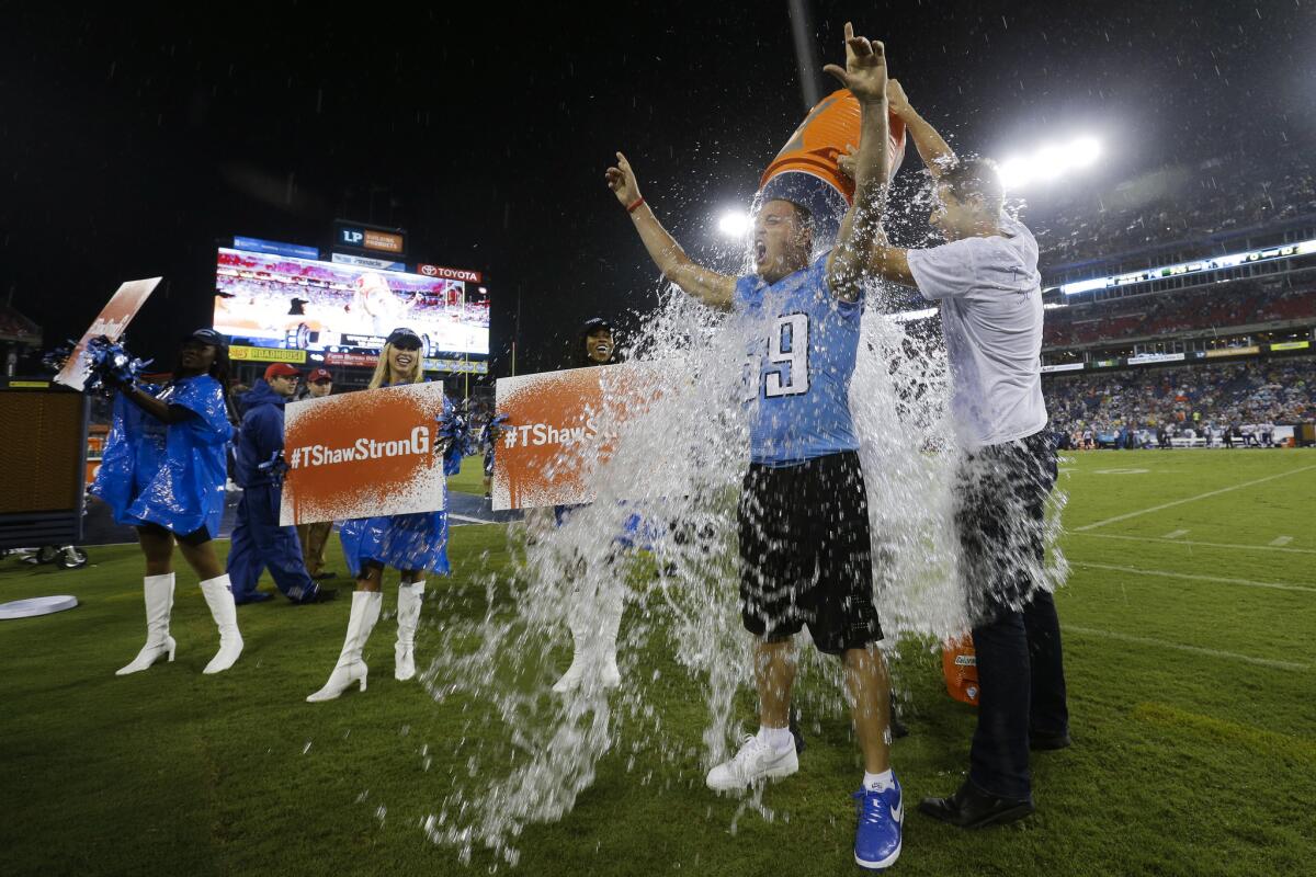
[[[487, 272], [496, 372], [519, 297], [519, 371], [554, 367], [583, 320], [655, 301], [603, 184], [613, 151], [687, 249], [730, 268], [712, 220], [804, 114], [784, 0], [55, 5], [5, 4], [0, 34], [0, 295], [47, 344], [120, 280], [163, 275], [133, 333], [163, 355], [209, 325], [217, 241], [328, 249], [345, 217]], [[1313, 0], [811, 8], [822, 62], [853, 17], [961, 149], [1091, 129], [1113, 183], [1316, 142]]]

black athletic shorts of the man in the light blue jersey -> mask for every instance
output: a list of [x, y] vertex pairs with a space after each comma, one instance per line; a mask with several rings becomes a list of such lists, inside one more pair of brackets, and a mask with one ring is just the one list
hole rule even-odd
[[858, 454], [788, 467], [751, 464], [738, 518], [745, 630], [783, 642], [808, 625], [828, 655], [882, 639]]

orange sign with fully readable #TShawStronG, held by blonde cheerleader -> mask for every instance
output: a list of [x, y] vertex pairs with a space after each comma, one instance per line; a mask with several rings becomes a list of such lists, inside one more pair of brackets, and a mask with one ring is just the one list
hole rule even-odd
[[442, 510], [442, 412], [437, 381], [290, 402], [280, 526]]

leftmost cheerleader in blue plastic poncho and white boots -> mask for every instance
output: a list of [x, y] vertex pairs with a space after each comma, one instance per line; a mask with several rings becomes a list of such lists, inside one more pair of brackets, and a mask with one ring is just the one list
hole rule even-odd
[[233, 667], [242, 653], [237, 610], [224, 564], [211, 540], [224, 514], [225, 463], [233, 438], [225, 339], [199, 329], [183, 341], [174, 379], [163, 388], [122, 384], [114, 422], [91, 492], [114, 521], [137, 529], [146, 557], [146, 644], [117, 675], [174, 660], [168, 632], [174, 607], [174, 543], [201, 580], [220, 628], [220, 651], [205, 673]]

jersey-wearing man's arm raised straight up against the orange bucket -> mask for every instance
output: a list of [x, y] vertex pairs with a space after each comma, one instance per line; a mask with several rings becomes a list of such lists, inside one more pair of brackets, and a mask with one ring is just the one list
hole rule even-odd
[[887, 189], [887, 59], [880, 42], [854, 36], [845, 24], [845, 70], [824, 67], [859, 101], [859, 151], [854, 158], [854, 204], [846, 210], [836, 249], [828, 256], [826, 277], [833, 295], [858, 301], [869, 267], [869, 252], [882, 227]]

